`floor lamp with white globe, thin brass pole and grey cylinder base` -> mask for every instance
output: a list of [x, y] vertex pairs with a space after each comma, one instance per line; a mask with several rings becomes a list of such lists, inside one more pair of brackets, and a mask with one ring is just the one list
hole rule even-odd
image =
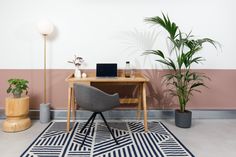
[[43, 92], [43, 103], [40, 104], [40, 122], [47, 123], [50, 121], [50, 109], [49, 103], [47, 103], [47, 37], [53, 32], [53, 24], [48, 20], [42, 20], [38, 23], [39, 33], [42, 34], [44, 38], [44, 92]]

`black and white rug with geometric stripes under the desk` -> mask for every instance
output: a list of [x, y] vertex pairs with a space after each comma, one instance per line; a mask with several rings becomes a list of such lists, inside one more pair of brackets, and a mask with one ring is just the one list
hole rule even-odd
[[65, 122], [51, 122], [21, 157], [193, 157], [192, 153], [162, 124], [149, 122], [144, 132], [141, 121], [108, 122], [119, 145], [103, 122], [96, 121], [79, 150], [87, 131], [76, 122], [70, 133]]

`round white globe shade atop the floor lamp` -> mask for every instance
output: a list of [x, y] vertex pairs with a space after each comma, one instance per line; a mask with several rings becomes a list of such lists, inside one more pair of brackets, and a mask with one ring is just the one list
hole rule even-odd
[[41, 20], [37, 24], [38, 31], [42, 35], [49, 35], [53, 32], [54, 26], [49, 20]]

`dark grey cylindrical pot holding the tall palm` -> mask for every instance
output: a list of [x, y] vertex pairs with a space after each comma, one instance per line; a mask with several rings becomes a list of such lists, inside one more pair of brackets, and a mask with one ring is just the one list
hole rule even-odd
[[192, 123], [192, 112], [185, 110], [185, 112], [180, 112], [180, 110], [175, 110], [175, 125], [180, 128], [190, 128]]

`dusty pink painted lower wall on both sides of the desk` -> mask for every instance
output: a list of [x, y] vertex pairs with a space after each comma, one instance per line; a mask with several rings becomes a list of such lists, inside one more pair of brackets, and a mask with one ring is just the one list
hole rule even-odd
[[[195, 93], [187, 108], [189, 109], [236, 109], [236, 70], [197, 70], [211, 78], [206, 81], [209, 88], [202, 88], [202, 93]], [[54, 109], [66, 109], [67, 83], [65, 78], [73, 70], [51, 69], [47, 71], [47, 99]], [[149, 108], [176, 108], [177, 103], [165, 91], [161, 76], [166, 70], [142, 70], [150, 79], [147, 86]], [[29, 80], [31, 109], [38, 109], [43, 101], [43, 70], [0, 70], [0, 108], [4, 108], [7, 80], [24, 78]]]

